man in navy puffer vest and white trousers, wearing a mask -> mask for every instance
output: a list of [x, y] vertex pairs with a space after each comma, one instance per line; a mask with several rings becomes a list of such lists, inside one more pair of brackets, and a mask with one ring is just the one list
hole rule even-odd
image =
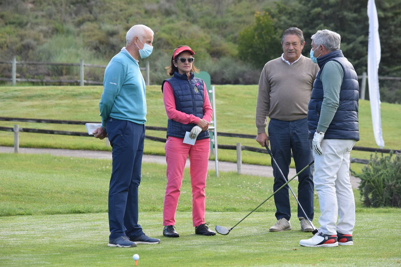
[[359, 140], [359, 86], [354, 67], [340, 50], [340, 40], [330, 30], [312, 35], [310, 56], [320, 71], [308, 105], [308, 127], [321, 215], [320, 229], [300, 241], [306, 247], [353, 245], [355, 202], [349, 168], [350, 151]]

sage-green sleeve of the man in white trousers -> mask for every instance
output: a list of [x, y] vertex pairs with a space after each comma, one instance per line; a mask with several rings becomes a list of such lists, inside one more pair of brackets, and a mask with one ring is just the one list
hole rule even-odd
[[323, 102], [318, 127], [316, 128], [319, 132], [326, 132], [334, 114], [336, 114], [340, 104], [340, 89], [343, 78], [344, 70], [340, 63], [330, 60], [324, 64], [322, 72], [320, 72], [320, 80], [323, 84]]

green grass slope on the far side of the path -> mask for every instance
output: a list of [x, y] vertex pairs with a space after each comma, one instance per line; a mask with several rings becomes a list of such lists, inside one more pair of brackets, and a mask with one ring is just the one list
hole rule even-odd
[[[256, 135], [255, 105], [257, 85], [217, 85], [216, 112], [219, 132], [237, 132]], [[60, 120], [100, 121], [98, 103], [102, 86], [29, 86], [0, 87], [1, 116], [21, 118], [48, 118]], [[162, 92], [159, 85], [147, 86], [148, 115], [146, 125], [166, 126], [167, 116], [164, 110]], [[399, 104], [381, 104], [381, 120], [385, 148], [400, 149], [399, 136], [401, 124], [397, 114], [401, 114]], [[360, 147], [377, 147], [373, 137], [371, 111], [369, 101], [360, 100], [359, 104]], [[13, 127], [19, 124], [26, 128], [45, 128], [54, 130], [71, 130], [84, 132], [83, 125], [44, 124], [27, 122], [0, 121], [0, 126]], [[148, 130], [147, 135], [164, 137], [166, 133]], [[164, 143], [145, 141], [145, 153], [164, 155]], [[260, 147], [253, 139], [219, 137], [219, 144]], [[12, 132], [0, 131], [0, 145], [13, 146]], [[64, 149], [90, 149], [111, 151], [104, 141], [89, 137], [70, 137], [62, 135], [47, 135], [35, 133], [20, 133], [20, 147], [50, 147]], [[369, 159], [371, 153], [352, 151], [351, 157]], [[213, 155], [211, 156], [213, 159]], [[270, 165], [268, 155], [249, 151], [242, 152], [244, 163]], [[236, 152], [219, 149], [220, 161], [236, 161]], [[291, 164], [294, 167], [294, 163]], [[351, 168], [360, 172], [361, 164], [352, 163]]]

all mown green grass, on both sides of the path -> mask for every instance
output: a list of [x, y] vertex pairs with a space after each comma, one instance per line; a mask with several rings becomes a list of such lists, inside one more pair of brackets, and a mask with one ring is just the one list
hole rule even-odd
[[[0, 116], [99, 121], [100, 86], [0, 87]], [[254, 113], [257, 86], [216, 86], [218, 131], [255, 135]], [[148, 86], [149, 126], [166, 126], [160, 86]], [[386, 148], [400, 149], [401, 106], [382, 103], [382, 126]], [[368, 101], [360, 101], [358, 146], [376, 147]], [[85, 132], [79, 125], [0, 121], [0, 126], [19, 124]], [[164, 132], [147, 135], [165, 137]], [[219, 137], [219, 143], [257, 147], [253, 139]], [[13, 133], [0, 131], [0, 145], [12, 146]], [[21, 147], [111, 150], [104, 141], [90, 137], [68, 137], [20, 133]], [[164, 143], [146, 141], [146, 153], [164, 155]], [[353, 151], [352, 157], [371, 153]], [[235, 151], [219, 150], [219, 160], [235, 161]], [[265, 154], [243, 151], [243, 161], [269, 165]], [[361, 165], [352, 164], [360, 170]], [[368, 209], [356, 199], [354, 246], [335, 248], [300, 247], [302, 233], [296, 219], [296, 202], [290, 197], [293, 230], [269, 233], [275, 223], [273, 199], [233, 229], [229, 235], [194, 235], [191, 219], [191, 189], [184, 173], [176, 227], [177, 239], [162, 236], [164, 165], [144, 164], [140, 186], [140, 224], [158, 245], [136, 248], [107, 247], [107, 192], [111, 161], [55, 157], [50, 155], [0, 154], [0, 266], [132, 266], [132, 255], [140, 255], [138, 266], [400, 266], [400, 209]], [[210, 172], [207, 182], [206, 220], [232, 227], [263, 201], [272, 190], [272, 178]], [[297, 192], [296, 181], [291, 183]], [[319, 206], [315, 195], [315, 219]]]

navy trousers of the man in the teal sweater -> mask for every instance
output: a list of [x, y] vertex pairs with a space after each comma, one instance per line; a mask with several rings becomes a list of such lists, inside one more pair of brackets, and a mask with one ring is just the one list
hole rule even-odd
[[107, 134], [113, 148], [109, 187], [109, 239], [143, 235], [138, 224], [138, 186], [141, 181], [145, 125], [108, 118]]

